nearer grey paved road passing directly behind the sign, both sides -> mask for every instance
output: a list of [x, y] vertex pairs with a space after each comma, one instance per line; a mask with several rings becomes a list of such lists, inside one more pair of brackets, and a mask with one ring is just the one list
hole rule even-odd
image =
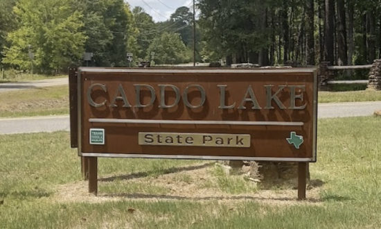
[[[381, 110], [381, 101], [361, 103], [322, 103], [319, 104], [318, 117], [355, 117], [369, 116]], [[28, 117], [21, 119], [0, 119], [0, 134], [54, 132], [70, 130], [69, 116]]]

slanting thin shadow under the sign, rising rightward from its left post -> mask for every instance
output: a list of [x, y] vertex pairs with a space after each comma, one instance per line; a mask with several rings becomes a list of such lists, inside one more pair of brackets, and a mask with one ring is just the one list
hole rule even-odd
[[[180, 171], [191, 171], [195, 169], [204, 169], [206, 167], [211, 166], [212, 164], [215, 164], [215, 162], [209, 162], [206, 164], [200, 164], [200, 165], [193, 165], [193, 166], [187, 166], [187, 167], [171, 167], [169, 169], [163, 169], [160, 174], [168, 174], [168, 173], [178, 173]], [[140, 173], [132, 173], [128, 175], [121, 175], [121, 176], [111, 176], [108, 178], [100, 178], [99, 181], [103, 182], [112, 182], [114, 180], [130, 180], [134, 178], [143, 178], [145, 176], [149, 176], [151, 173], [149, 172], [140, 172]]]

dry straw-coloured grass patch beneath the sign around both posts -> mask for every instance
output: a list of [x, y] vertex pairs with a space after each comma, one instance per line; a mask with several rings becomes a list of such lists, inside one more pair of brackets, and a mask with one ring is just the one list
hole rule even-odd
[[[297, 201], [297, 191], [289, 189], [258, 190], [251, 181], [242, 176], [228, 176], [227, 179], [242, 179], [253, 189], [243, 189], [240, 194], [230, 194], [220, 189], [216, 166], [210, 163], [197, 164], [195, 169], [175, 171], [160, 176], [117, 179], [106, 176], [98, 179], [98, 196], [88, 193], [87, 181], [59, 185], [54, 200], [62, 203], [103, 203], [107, 201], [218, 201], [234, 207], [238, 202], [256, 201], [267, 205], [321, 205], [320, 187], [308, 190], [308, 201]], [[185, 178], [185, 181], [182, 179]], [[105, 181], [106, 180], [106, 181]], [[191, 180], [191, 182], [188, 182]], [[211, 183], [213, 185], [205, 185]], [[145, 189], [129, 189], [129, 186]], [[157, 192], [160, 189], [160, 192]]]

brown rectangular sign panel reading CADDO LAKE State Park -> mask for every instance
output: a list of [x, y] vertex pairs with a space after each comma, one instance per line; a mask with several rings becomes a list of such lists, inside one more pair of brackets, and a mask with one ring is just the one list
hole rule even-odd
[[315, 162], [314, 69], [78, 69], [82, 156]]

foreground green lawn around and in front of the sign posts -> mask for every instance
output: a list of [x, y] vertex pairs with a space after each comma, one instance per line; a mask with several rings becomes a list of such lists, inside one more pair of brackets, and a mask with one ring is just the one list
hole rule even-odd
[[[63, 198], [57, 196], [57, 187], [68, 187], [70, 191], [72, 184], [79, 183], [86, 189], [86, 183], [80, 183], [76, 150], [69, 149], [69, 134], [0, 135], [0, 225], [380, 228], [380, 124], [378, 117], [319, 120], [318, 160], [310, 164], [310, 176], [322, 180], [324, 185], [318, 189], [316, 199], [301, 203], [271, 196], [265, 201], [250, 198], [256, 191], [247, 190], [244, 180], [234, 176], [229, 180], [219, 167], [211, 164], [200, 167], [206, 162], [106, 158], [98, 162], [98, 198], [76, 189], [71, 192], [78, 192], [78, 199]], [[208, 184], [212, 192], [227, 197], [197, 198]], [[221, 191], [222, 187], [227, 189]], [[191, 191], [195, 192], [193, 197], [179, 197], [182, 192]], [[290, 198], [295, 196], [294, 192]]]

